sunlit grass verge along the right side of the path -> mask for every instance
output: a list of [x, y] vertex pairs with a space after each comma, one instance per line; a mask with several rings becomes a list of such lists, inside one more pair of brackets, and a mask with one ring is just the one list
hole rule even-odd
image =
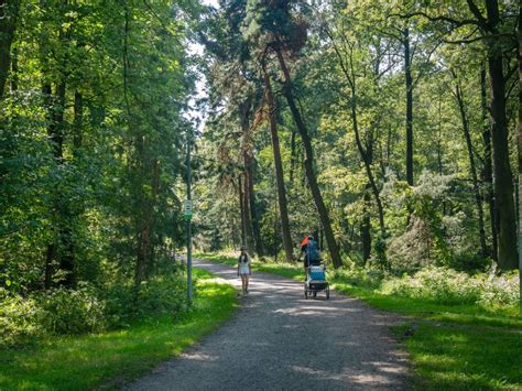
[[[200, 259], [236, 265], [236, 257], [199, 253]], [[302, 280], [301, 264], [253, 262], [263, 271]], [[370, 306], [407, 316], [393, 328], [409, 351], [412, 387], [423, 390], [522, 390], [522, 316], [518, 308], [444, 305], [387, 295], [379, 286], [358, 286], [329, 275], [336, 291]]]

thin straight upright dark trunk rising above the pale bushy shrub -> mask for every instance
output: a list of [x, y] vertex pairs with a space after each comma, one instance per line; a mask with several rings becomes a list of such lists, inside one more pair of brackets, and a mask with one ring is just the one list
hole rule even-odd
[[413, 186], [413, 78], [410, 53], [410, 30], [403, 31], [404, 76], [406, 82], [406, 181]]

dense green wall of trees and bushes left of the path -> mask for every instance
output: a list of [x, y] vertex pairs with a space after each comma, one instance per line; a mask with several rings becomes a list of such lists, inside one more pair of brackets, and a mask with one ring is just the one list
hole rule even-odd
[[183, 283], [162, 268], [184, 227], [185, 41], [199, 11], [21, 2], [0, 98], [6, 344], [183, 312]]

